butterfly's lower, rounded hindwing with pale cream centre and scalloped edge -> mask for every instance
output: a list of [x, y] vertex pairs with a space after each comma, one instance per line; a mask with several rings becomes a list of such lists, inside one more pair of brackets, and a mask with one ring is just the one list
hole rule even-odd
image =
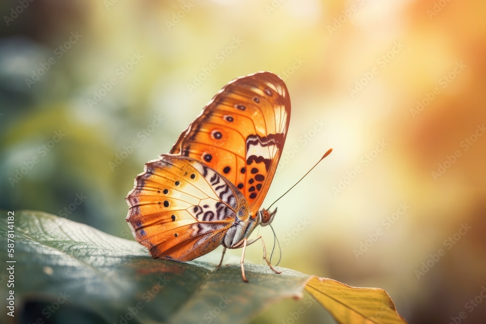
[[235, 223], [248, 220], [248, 204], [235, 186], [203, 163], [177, 155], [147, 162], [126, 200], [132, 233], [155, 258], [205, 255]]

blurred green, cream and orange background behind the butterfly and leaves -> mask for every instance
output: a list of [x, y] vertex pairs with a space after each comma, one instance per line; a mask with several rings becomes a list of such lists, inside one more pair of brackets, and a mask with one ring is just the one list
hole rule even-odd
[[[0, 207], [133, 239], [124, 197], [143, 164], [227, 82], [268, 70], [292, 118], [263, 206], [334, 149], [277, 204], [279, 265], [382, 288], [409, 323], [484, 323], [485, 11], [480, 0], [2, 1]], [[271, 230], [259, 233], [271, 246]], [[260, 262], [260, 244], [247, 251]], [[333, 323], [292, 300], [253, 323], [292, 321]]]

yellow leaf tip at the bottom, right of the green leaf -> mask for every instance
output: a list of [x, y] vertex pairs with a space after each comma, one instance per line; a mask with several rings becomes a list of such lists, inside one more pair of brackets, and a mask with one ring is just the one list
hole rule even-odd
[[307, 290], [340, 324], [406, 324], [385, 290], [312, 277]]

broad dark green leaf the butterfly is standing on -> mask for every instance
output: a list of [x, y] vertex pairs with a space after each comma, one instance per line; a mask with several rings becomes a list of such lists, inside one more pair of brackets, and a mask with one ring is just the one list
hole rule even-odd
[[[2, 246], [7, 230], [2, 217]], [[288, 269], [278, 268], [282, 274], [275, 274], [267, 266], [245, 264], [249, 283], [244, 283], [239, 264], [215, 270], [207, 262], [152, 259], [135, 241], [33, 211], [15, 214], [12, 260], [17, 261], [16, 316], [26, 303], [45, 305], [32, 321], [78, 307], [107, 323], [247, 323], [280, 299], [301, 297], [308, 278]], [[0, 289], [2, 296], [7, 294], [6, 285]]]

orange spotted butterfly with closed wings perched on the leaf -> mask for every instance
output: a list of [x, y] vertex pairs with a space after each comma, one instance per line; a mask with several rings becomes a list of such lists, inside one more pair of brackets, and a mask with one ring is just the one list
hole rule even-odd
[[[154, 258], [190, 261], [219, 245], [243, 248], [277, 210], [260, 206], [283, 150], [290, 122], [287, 86], [257, 72], [224, 86], [184, 130], [170, 153], [145, 164], [125, 198], [126, 221]], [[266, 257], [263, 258], [279, 273]]]

